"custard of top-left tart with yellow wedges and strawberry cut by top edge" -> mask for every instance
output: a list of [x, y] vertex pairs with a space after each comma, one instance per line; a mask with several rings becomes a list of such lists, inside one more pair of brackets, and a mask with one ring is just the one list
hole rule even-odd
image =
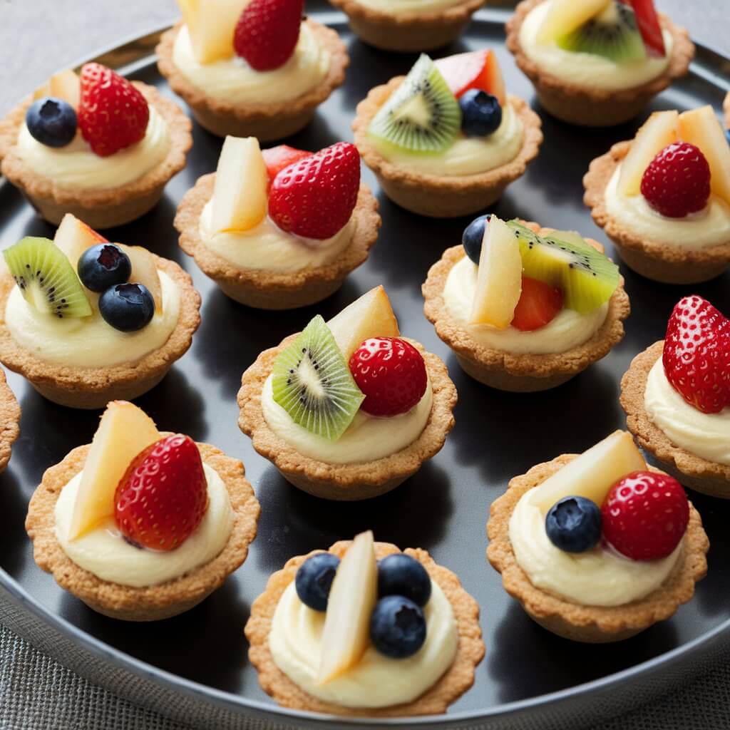
[[201, 64], [193, 54], [188, 26], [180, 28], [172, 61], [193, 86], [229, 104], [273, 104], [292, 101], [311, 91], [326, 77], [330, 54], [307, 23], [301, 23], [299, 41], [289, 60], [271, 71], [256, 71], [234, 56]]

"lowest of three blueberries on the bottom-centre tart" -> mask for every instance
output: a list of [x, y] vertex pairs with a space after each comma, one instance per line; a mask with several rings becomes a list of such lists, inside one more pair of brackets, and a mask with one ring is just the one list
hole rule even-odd
[[403, 596], [385, 596], [375, 604], [370, 617], [370, 640], [385, 656], [393, 659], [412, 656], [426, 641], [423, 611]]

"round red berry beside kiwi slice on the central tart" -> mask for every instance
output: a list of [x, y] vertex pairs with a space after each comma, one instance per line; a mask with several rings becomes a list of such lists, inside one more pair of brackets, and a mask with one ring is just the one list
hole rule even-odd
[[410, 411], [426, 393], [426, 363], [410, 342], [372, 337], [350, 357], [350, 372], [364, 393], [361, 408], [370, 415]]

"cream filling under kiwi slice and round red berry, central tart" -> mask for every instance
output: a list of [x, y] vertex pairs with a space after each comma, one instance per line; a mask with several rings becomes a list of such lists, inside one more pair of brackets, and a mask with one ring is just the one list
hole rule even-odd
[[330, 441], [291, 420], [288, 412], [274, 401], [272, 378], [266, 378], [261, 393], [261, 409], [269, 429], [303, 456], [326, 464], [354, 464], [390, 456], [412, 444], [431, 415], [433, 393], [429, 381], [426, 393], [407, 413], [377, 418], [359, 410], [347, 431], [337, 441]]

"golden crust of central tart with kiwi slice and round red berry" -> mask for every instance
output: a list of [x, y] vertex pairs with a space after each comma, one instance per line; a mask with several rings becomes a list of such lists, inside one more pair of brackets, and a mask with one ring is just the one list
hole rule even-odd
[[278, 347], [264, 350], [243, 374], [238, 392], [241, 410], [239, 428], [250, 436], [255, 450], [269, 459], [288, 482], [324, 499], [369, 499], [396, 488], [418, 472], [423, 461], [441, 450], [455, 423], [453, 409], [456, 406], [456, 387], [441, 358], [427, 353], [423, 345], [412, 339], [408, 341], [418, 347], [423, 355], [433, 391], [429, 420], [414, 442], [390, 456], [355, 464], [317, 461], [288, 445], [266, 423], [261, 407], [261, 391], [272, 372], [274, 360], [296, 337], [296, 334], [292, 334]]

